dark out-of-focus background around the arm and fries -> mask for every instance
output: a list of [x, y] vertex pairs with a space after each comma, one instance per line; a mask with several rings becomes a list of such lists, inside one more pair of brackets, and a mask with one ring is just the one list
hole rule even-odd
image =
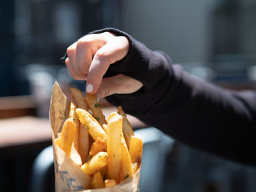
[[[54, 81], [84, 88], [60, 58], [89, 31], [120, 28], [203, 80], [235, 90], [256, 88], [255, 0], [9, 0], [0, 5], [0, 191], [31, 191], [34, 160], [51, 144]], [[131, 120], [135, 128], [145, 127]], [[161, 180], [148, 182], [148, 188], [256, 191], [255, 168], [176, 142], [160, 155], [164, 169], [153, 177]]]

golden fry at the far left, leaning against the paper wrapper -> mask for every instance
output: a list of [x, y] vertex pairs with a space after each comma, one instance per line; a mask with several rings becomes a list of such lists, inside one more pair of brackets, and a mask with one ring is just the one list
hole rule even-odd
[[72, 142], [75, 138], [75, 124], [72, 119], [67, 118], [63, 124], [61, 136], [56, 139], [56, 145], [61, 147], [67, 155], [70, 155]]

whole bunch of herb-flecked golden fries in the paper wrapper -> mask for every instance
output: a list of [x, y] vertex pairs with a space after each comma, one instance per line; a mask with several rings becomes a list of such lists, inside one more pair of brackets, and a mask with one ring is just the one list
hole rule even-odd
[[83, 99], [81, 91], [70, 90], [75, 101], [70, 104], [69, 117], [55, 139], [56, 145], [89, 175], [92, 189], [110, 188], [133, 177], [140, 168], [143, 142], [135, 137], [122, 108], [105, 120], [94, 95]]

